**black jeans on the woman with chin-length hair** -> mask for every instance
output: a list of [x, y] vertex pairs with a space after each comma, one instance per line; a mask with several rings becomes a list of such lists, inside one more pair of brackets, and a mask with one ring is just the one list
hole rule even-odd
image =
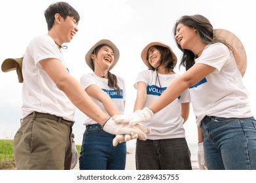
[[137, 139], [136, 169], [191, 170], [191, 153], [186, 139]]

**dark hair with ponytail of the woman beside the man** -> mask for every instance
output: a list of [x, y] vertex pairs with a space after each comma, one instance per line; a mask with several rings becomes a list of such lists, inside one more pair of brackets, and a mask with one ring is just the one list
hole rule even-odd
[[[98, 55], [98, 52], [102, 46], [105, 46], [105, 44], [101, 44], [94, 49], [95, 56]], [[106, 45], [106, 46], [108, 46], [108, 45]], [[114, 53], [114, 56], [115, 56], [115, 53]], [[92, 70], [94, 71], [94, 69], [95, 69], [94, 64], [92, 63]], [[117, 76], [110, 73], [110, 71], [107, 71], [107, 76], [109, 79], [107, 86], [109, 86], [109, 88], [114, 88], [115, 90], [117, 90], [118, 95], [120, 95], [121, 90], [120, 90], [119, 85], [117, 84]]]

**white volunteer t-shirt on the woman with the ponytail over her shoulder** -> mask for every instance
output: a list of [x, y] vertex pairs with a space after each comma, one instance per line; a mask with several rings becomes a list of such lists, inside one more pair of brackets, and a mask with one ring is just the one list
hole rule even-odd
[[[117, 76], [117, 75], [116, 75]], [[120, 88], [120, 95], [118, 95], [117, 90], [113, 88], [109, 88], [107, 86], [107, 82], [109, 80], [107, 78], [100, 78], [99, 76], [95, 75], [94, 73], [88, 73], [84, 74], [80, 78], [80, 83], [82, 88], [84, 90], [88, 88], [88, 86], [91, 86], [92, 84], [95, 84], [101, 88], [105, 93], [111, 97], [113, 103], [115, 103], [116, 107], [118, 108], [120, 114], [124, 114], [124, 101], [126, 101], [126, 90], [125, 90], [125, 84], [124, 84], [124, 79], [120, 76], [117, 76], [117, 84]], [[107, 113], [105, 108], [103, 107], [102, 103], [93, 97], [91, 97], [94, 103], [98, 105], [101, 110]], [[92, 125], [92, 124], [98, 124], [91, 118], [87, 118], [84, 122], [84, 125]]]

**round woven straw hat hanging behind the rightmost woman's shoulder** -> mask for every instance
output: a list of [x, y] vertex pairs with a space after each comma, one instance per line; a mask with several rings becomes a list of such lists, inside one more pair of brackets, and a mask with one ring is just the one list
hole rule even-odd
[[236, 59], [236, 65], [242, 76], [246, 73], [247, 67], [247, 57], [246, 50], [240, 39], [236, 37], [230, 31], [225, 29], [214, 29], [213, 30], [214, 39], [225, 41], [228, 45], [230, 45], [233, 49], [234, 59]]

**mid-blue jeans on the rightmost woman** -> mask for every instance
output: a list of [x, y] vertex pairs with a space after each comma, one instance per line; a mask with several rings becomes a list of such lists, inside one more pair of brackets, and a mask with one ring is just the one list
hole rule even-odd
[[206, 116], [200, 127], [208, 169], [256, 169], [255, 118]]

